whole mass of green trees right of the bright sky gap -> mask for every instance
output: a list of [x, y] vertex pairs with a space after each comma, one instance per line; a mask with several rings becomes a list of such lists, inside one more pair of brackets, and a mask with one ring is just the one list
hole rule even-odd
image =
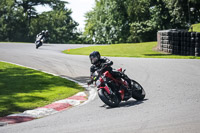
[[84, 36], [93, 43], [153, 41], [158, 30], [186, 29], [200, 22], [199, 4], [199, 0], [96, 0], [86, 14]]

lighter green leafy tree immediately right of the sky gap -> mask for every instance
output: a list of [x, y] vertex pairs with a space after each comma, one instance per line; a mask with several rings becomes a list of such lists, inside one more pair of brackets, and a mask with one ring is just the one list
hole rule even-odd
[[[129, 27], [121, 0], [96, 0], [93, 11], [86, 14], [84, 35], [94, 43], [119, 43], [127, 38]], [[126, 33], [126, 34], [125, 34]]]

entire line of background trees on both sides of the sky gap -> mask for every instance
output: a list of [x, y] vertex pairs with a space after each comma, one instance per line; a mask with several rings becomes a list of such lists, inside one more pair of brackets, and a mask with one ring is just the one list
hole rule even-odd
[[[84, 32], [62, 0], [1, 0], [0, 41], [34, 42], [49, 30], [49, 42], [115, 44], [156, 40], [158, 30], [188, 29], [200, 22], [199, 0], [95, 0]], [[51, 11], [38, 14], [37, 5]]]

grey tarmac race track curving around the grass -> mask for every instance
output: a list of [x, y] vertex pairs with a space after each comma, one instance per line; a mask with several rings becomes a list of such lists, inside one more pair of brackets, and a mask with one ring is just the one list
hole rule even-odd
[[[0, 43], [0, 60], [37, 68], [86, 82], [88, 56], [66, 55], [64, 49], [87, 45]], [[83, 106], [30, 122], [0, 127], [0, 133], [199, 133], [200, 60], [116, 58], [114, 68], [146, 91], [146, 99], [130, 99], [109, 108], [97, 96]]]

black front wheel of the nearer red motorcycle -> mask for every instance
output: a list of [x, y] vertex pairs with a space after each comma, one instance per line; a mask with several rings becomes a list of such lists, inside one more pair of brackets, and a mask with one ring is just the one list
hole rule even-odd
[[100, 97], [100, 99], [108, 106], [110, 107], [117, 107], [119, 106], [119, 103], [121, 102], [121, 100], [119, 99], [119, 97], [115, 94], [110, 95], [108, 94], [104, 89], [100, 89], [98, 91], [98, 95]]

